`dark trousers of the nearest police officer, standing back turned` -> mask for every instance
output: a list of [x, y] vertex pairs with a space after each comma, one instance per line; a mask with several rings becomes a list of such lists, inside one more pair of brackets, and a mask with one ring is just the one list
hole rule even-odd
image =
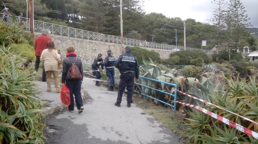
[[120, 77], [116, 103], [121, 103], [125, 87], [127, 89], [127, 103], [133, 103], [132, 96], [134, 88], [134, 79], [135, 76]]

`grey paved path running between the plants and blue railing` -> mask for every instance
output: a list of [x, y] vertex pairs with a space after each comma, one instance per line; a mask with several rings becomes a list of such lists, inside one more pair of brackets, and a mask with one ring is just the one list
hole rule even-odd
[[[47, 122], [48, 125], [57, 125], [66, 129], [67, 133], [58, 134], [55, 143], [182, 143], [173, 131], [164, 127], [153, 116], [132, 104], [126, 106], [126, 97], [123, 97], [121, 107], [114, 106], [117, 91], [107, 91], [104, 86], [97, 87], [92, 80], [84, 79], [83, 91], [88, 93], [88, 100], [84, 102], [83, 113], [70, 113], [66, 106], [61, 104], [60, 94], [46, 91], [46, 83], [36, 81], [42, 89], [42, 100], [49, 101], [48, 114], [61, 111]], [[52, 85], [54, 87], [54, 85]], [[52, 88], [53, 89], [53, 88]], [[90, 97], [90, 98], [89, 98]], [[76, 108], [75, 108], [76, 109]], [[64, 123], [62, 123], [62, 121]], [[69, 121], [65, 123], [65, 121]], [[71, 130], [76, 125], [81, 130]], [[69, 128], [67, 128], [69, 126]], [[61, 128], [61, 129], [62, 129]], [[71, 130], [71, 131], [70, 131]], [[83, 131], [82, 131], [83, 130]], [[68, 132], [69, 131], [69, 132]], [[57, 132], [57, 131], [56, 131]], [[60, 131], [61, 132], [61, 131]], [[77, 132], [77, 134], [76, 134]], [[57, 132], [58, 133], [58, 132]], [[81, 134], [84, 133], [82, 136]], [[74, 135], [79, 135], [74, 141]], [[81, 139], [81, 137], [83, 137]], [[57, 139], [57, 137], [55, 137]], [[60, 139], [62, 139], [60, 141]], [[64, 140], [65, 139], [65, 140]], [[88, 141], [88, 142], [83, 142]]]

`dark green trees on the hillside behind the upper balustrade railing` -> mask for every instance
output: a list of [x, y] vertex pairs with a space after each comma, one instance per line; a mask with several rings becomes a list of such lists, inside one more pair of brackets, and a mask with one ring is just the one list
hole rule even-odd
[[[10, 7], [11, 14], [18, 16], [22, 12], [26, 15], [25, 1], [0, 2]], [[210, 5], [214, 9], [213, 18], [210, 18], [212, 25], [187, 19], [186, 46], [201, 48], [201, 41], [206, 40], [207, 45], [203, 47], [206, 49], [218, 45], [220, 49], [248, 46], [256, 50], [257, 39], [250, 35], [250, 31], [246, 31], [247, 27], [251, 27], [247, 23], [248, 16], [245, 15], [242, 4], [237, 2], [225, 3], [222, 0], [214, 0]], [[153, 39], [157, 43], [176, 45], [177, 29], [177, 45], [184, 45], [184, 26], [181, 18], [167, 18], [158, 13], [146, 14], [141, 0], [124, 0], [122, 6], [124, 37], [150, 42]], [[34, 0], [35, 20], [108, 35], [120, 36], [119, 15], [119, 0]]]

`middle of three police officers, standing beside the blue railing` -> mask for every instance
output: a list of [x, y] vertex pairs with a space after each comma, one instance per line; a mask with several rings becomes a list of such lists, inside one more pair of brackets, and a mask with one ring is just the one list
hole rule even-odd
[[108, 91], [114, 91], [115, 86], [115, 58], [111, 54], [111, 50], [107, 51], [108, 56], [104, 59], [104, 65], [106, 68], [106, 74], [109, 78], [109, 88]]

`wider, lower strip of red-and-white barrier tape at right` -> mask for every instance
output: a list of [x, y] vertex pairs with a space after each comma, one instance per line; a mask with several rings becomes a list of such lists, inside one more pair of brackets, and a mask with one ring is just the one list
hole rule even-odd
[[215, 113], [213, 113], [211, 111], [208, 111], [208, 110], [206, 110], [206, 109], [204, 109], [202, 107], [196, 106], [196, 105], [192, 105], [192, 104], [188, 104], [188, 103], [184, 103], [184, 102], [180, 102], [180, 101], [176, 101], [176, 102], [180, 103], [180, 104], [183, 104], [183, 105], [186, 105], [186, 106], [190, 106], [190, 107], [196, 108], [199, 111], [201, 111], [201, 112], [203, 112], [205, 114], [208, 114], [209, 116], [211, 116], [213, 118], [216, 118], [216, 119], [222, 121], [223, 123], [226, 123], [227, 125], [229, 125], [229, 126], [235, 128], [237, 130], [240, 130], [240, 131], [242, 131], [242, 132], [244, 132], [244, 133], [246, 133], [246, 134], [248, 134], [248, 135], [250, 135], [250, 136], [252, 136], [252, 137], [254, 137], [256, 139], [258, 139], [258, 133], [254, 132], [254, 131], [252, 131], [250, 129], [247, 129], [246, 127], [243, 127], [242, 125], [239, 125], [239, 124], [237, 124], [237, 123], [235, 123], [233, 121], [230, 121], [229, 119], [226, 119], [226, 118], [224, 118], [224, 117], [222, 117], [220, 115], [217, 115], [217, 114], [215, 114]]

